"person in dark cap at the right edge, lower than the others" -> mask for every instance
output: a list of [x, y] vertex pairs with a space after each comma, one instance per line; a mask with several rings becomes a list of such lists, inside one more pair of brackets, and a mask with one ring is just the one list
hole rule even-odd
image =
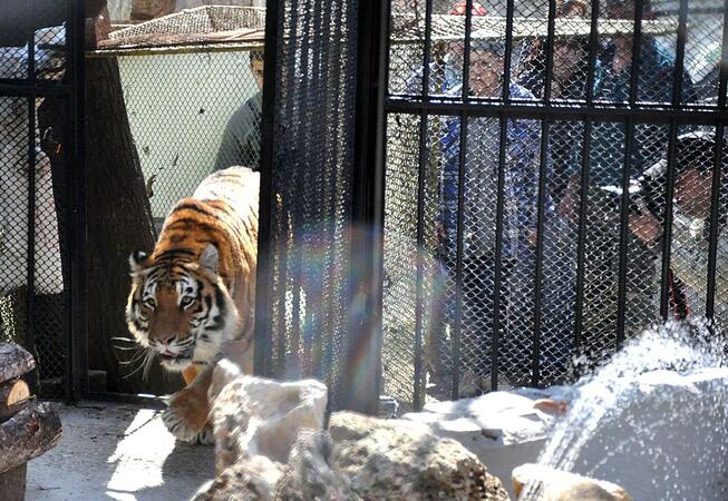
[[[710, 248], [710, 215], [716, 139], [712, 131], [693, 131], [678, 137], [674, 160], [673, 214], [670, 246], [670, 267], [689, 289], [689, 297], [702, 305], [708, 294], [708, 253]], [[721, 180], [718, 207], [718, 242], [716, 256], [716, 316], [728, 310], [728, 148], [720, 156]], [[637, 198], [630, 214], [630, 230], [661, 257], [663, 223], [661, 212], [650, 209], [649, 202], [658, 199], [664, 207], [667, 158], [647, 171], [644, 187], [649, 194]], [[657, 213], [657, 215], [656, 215]], [[690, 306], [690, 305], [689, 305]], [[724, 318], [725, 320], [725, 318]]]

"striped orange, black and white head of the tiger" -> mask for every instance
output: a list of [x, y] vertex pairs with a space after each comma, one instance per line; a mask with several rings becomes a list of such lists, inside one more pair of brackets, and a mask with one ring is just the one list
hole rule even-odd
[[129, 331], [142, 346], [154, 350], [169, 371], [183, 371], [193, 361], [211, 361], [237, 332], [237, 312], [217, 274], [217, 261], [214, 245], [198, 259], [185, 249], [156, 258], [143, 252], [129, 257]]

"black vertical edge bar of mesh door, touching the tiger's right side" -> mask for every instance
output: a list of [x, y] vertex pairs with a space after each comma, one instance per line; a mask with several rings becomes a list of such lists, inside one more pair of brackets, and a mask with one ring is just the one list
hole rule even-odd
[[[284, 6], [284, 2], [281, 4]], [[265, 81], [263, 85], [263, 118], [261, 122], [261, 190], [260, 190], [260, 228], [258, 236], [258, 274], [255, 284], [255, 346], [254, 372], [256, 375], [271, 376], [271, 297], [273, 291], [273, 267], [271, 266], [272, 238], [274, 235], [273, 216], [275, 191], [273, 183], [273, 160], [275, 139], [275, 95], [278, 90], [278, 40], [279, 17], [284, 9], [279, 9], [278, 0], [265, 2]], [[285, 288], [285, 284], [283, 284]], [[283, 302], [285, 304], [285, 292]], [[284, 306], [283, 306], [284, 307]]]

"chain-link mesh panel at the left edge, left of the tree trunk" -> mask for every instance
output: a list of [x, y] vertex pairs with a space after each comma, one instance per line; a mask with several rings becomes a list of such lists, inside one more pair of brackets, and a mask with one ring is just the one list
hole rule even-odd
[[67, 395], [68, 369], [65, 9], [19, 9], [28, 22], [0, 36], [0, 341], [33, 354], [33, 392], [49, 397]]

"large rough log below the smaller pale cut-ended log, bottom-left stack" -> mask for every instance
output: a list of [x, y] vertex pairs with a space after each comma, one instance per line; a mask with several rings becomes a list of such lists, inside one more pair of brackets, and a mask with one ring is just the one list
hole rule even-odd
[[30, 402], [0, 423], [0, 472], [17, 468], [58, 444], [60, 418], [50, 405]]

